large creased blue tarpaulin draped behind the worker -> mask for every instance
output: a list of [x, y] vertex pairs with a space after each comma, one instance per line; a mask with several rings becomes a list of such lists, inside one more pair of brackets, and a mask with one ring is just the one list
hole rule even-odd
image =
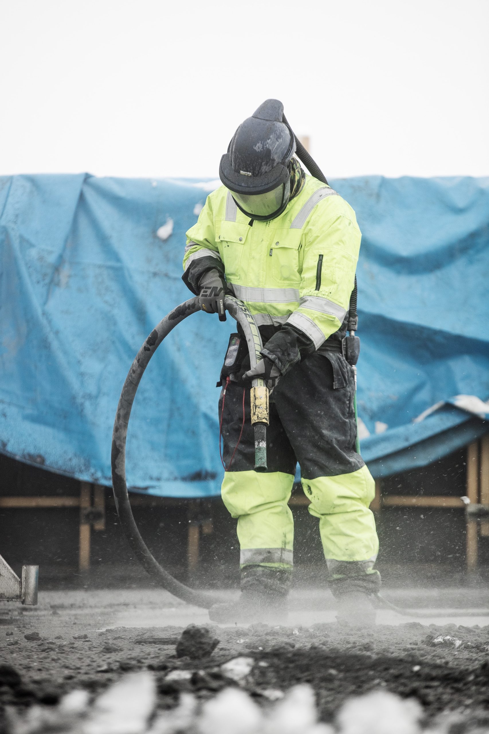
[[[125, 375], [155, 324], [189, 297], [185, 230], [214, 186], [0, 178], [2, 453], [110, 484]], [[332, 186], [363, 233], [362, 454], [375, 476], [386, 476], [489, 429], [484, 407], [466, 410], [456, 398], [489, 396], [489, 178], [366, 176]], [[152, 358], [130, 421], [134, 490], [218, 494], [215, 385], [232, 330], [230, 318], [197, 313]]]

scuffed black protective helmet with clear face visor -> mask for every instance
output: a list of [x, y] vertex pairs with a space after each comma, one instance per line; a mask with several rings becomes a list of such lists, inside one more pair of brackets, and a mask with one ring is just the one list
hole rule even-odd
[[251, 219], [268, 220], [289, 203], [295, 137], [282, 121], [284, 106], [268, 99], [242, 123], [221, 158], [219, 177]]

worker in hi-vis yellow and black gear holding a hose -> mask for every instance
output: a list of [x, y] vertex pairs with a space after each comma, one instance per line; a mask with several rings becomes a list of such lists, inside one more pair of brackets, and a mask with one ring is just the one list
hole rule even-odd
[[[298, 462], [338, 619], [372, 623], [380, 589], [369, 509], [375, 484], [355, 450], [355, 379], [342, 346], [361, 233], [348, 203], [304, 172], [283, 113], [281, 102], [267, 100], [238, 127], [221, 158], [223, 185], [188, 230], [183, 258], [183, 280], [202, 310], [224, 320], [224, 295], [234, 295], [265, 345], [250, 369], [246, 341], [236, 334], [221, 374], [221, 495], [238, 520], [241, 593], [211, 608], [210, 619], [283, 616], [293, 570], [287, 503]], [[254, 470], [246, 400], [257, 377], [273, 390], [264, 473]]]

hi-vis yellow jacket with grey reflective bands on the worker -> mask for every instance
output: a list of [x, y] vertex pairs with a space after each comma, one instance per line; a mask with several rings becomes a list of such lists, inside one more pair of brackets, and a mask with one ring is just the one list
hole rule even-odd
[[279, 217], [252, 224], [220, 186], [187, 232], [183, 268], [217, 258], [257, 326], [287, 321], [317, 349], [348, 311], [360, 240], [353, 209], [312, 176]]

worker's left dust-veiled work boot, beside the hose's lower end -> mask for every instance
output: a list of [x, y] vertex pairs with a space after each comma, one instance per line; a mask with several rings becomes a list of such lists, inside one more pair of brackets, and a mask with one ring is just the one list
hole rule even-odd
[[214, 604], [209, 609], [211, 622], [252, 624], [287, 622], [287, 593], [290, 571], [268, 566], [241, 569], [241, 593], [236, 601]]

